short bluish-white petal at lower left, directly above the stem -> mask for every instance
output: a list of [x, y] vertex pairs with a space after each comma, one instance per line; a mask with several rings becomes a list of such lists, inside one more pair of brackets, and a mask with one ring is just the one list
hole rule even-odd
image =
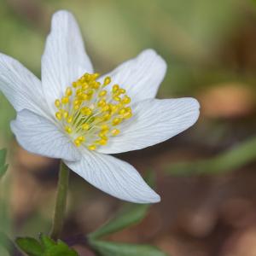
[[22, 148], [33, 154], [65, 160], [79, 160], [79, 150], [48, 119], [22, 110], [11, 122], [11, 129]]

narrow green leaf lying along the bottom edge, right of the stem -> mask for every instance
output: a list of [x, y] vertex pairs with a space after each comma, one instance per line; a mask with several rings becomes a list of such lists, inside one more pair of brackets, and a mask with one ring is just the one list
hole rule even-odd
[[157, 247], [110, 241], [90, 241], [90, 246], [102, 256], [166, 256]]

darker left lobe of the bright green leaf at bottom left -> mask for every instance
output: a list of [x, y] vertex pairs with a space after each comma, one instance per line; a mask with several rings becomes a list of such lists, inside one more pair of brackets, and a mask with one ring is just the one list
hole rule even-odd
[[44, 248], [41, 246], [39, 241], [31, 237], [24, 237], [24, 238], [17, 238], [16, 239], [17, 245], [20, 249], [27, 253], [29, 256], [43, 256], [44, 255]]

